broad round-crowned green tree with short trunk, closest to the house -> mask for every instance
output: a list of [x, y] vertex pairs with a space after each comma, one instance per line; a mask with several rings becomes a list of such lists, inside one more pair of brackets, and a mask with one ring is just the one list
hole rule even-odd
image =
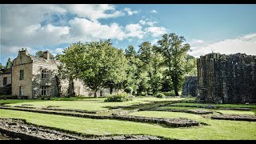
[[107, 82], [117, 84], [126, 78], [125, 55], [122, 50], [114, 48], [110, 40], [74, 43], [64, 50], [59, 59], [67, 74], [81, 79], [94, 90], [95, 98], [97, 91], [107, 86]]

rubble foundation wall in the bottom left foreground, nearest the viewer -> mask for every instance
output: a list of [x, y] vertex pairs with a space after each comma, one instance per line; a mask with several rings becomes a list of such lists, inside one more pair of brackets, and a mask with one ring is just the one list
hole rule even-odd
[[21, 140], [162, 140], [150, 135], [88, 135], [67, 133], [66, 130], [50, 129], [46, 126], [36, 126], [25, 120], [0, 118], [0, 132], [11, 138]]

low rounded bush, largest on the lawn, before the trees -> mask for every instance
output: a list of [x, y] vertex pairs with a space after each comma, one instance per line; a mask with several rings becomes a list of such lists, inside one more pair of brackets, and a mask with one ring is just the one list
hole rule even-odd
[[127, 93], [110, 94], [106, 96], [104, 102], [127, 102], [131, 101], [130, 95]]

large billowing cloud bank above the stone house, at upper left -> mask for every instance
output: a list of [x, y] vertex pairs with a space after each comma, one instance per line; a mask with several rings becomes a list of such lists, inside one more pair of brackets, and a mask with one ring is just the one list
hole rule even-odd
[[[166, 30], [154, 26], [156, 22], [150, 22], [148, 18], [126, 26], [99, 22], [98, 19], [117, 18], [125, 15], [125, 12], [128, 15], [140, 12], [130, 8], [116, 10], [114, 5], [0, 5], [0, 8], [2, 58], [18, 54], [22, 47], [34, 54], [38, 50], [46, 50], [47, 46], [99, 38], [138, 41], [148, 35], [146, 32], [155, 37]], [[53, 54], [62, 52], [59, 47], [50, 50]]]

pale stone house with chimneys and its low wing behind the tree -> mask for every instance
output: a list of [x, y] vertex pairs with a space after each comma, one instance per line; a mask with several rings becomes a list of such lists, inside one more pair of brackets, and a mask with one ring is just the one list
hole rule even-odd
[[[27, 50], [20, 50], [12, 66], [11, 90], [18, 98], [38, 98], [65, 96], [74, 87], [75, 95], [94, 95], [93, 91], [79, 80], [70, 82], [57, 77], [60, 62], [50, 58], [46, 51], [43, 58], [30, 56]], [[109, 90], [98, 90], [98, 96], [104, 96]]]

